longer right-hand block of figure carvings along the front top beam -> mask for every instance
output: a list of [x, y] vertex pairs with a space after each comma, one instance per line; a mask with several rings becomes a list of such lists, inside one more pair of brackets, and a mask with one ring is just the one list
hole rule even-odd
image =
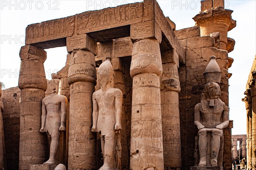
[[143, 16], [143, 3], [132, 3], [115, 8], [77, 14], [77, 33], [99, 31], [111, 27], [140, 23]]

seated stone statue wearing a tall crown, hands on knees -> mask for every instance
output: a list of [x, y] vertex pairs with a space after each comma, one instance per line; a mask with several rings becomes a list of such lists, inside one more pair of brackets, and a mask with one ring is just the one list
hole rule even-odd
[[195, 125], [198, 128], [198, 147], [200, 160], [198, 166], [207, 165], [207, 132], [211, 132], [210, 163], [217, 166], [223, 128], [229, 124], [229, 108], [221, 101], [221, 72], [216, 57], [212, 56], [205, 73], [206, 85], [201, 97], [201, 103], [195, 106]]

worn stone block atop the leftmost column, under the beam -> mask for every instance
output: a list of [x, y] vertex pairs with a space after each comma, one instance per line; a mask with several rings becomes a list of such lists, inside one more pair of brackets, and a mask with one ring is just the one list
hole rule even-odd
[[44, 62], [47, 58], [47, 53], [43, 49], [39, 49], [36, 46], [26, 45], [20, 48], [20, 60], [36, 59]]

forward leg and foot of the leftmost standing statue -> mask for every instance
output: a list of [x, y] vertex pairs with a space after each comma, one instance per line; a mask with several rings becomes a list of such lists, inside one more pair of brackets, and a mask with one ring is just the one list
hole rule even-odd
[[57, 126], [54, 130], [52, 130], [51, 134], [51, 144], [50, 144], [50, 156], [48, 161], [44, 162], [44, 164], [55, 164], [55, 156], [58, 150], [58, 140], [61, 132], [57, 130]]

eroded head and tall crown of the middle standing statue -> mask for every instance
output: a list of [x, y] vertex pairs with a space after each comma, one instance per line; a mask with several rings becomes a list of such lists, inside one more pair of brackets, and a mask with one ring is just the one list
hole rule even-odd
[[103, 92], [106, 90], [106, 86], [111, 84], [113, 86], [113, 67], [111, 64], [111, 58], [107, 57], [98, 69], [99, 85]]

